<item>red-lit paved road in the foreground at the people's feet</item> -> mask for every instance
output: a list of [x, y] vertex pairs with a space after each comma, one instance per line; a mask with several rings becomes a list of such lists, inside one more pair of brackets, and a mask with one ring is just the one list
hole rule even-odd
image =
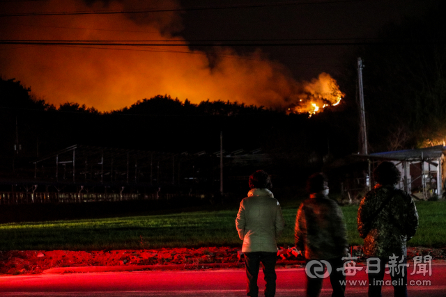
[[[260, 273], [260, 278], [263, 278]], [[385, 280], [388, 275], [386, 275]], [[348, 281], [366, 280], [365, 273]], [[409, 275], [415, 282], [409, 287], [412, 297], [446, 296], [446, 264], [434, 265], [432, 275]], [[416, 286], [429, 280], [431, 285]], [[264, 282], [259, 280], [263, 289]], [[393, 296], [392, 287], [384, 287], [383, 296]], [[263, 295], [263, 294], [261, 294]], [[140, 271], [118, 273], [43, 274], [0, 277], [0, 296], [42, 297], [139, 297], [139, 296], [246, 296], [243, 269], [207, 271]], [[303, 268], [277, 269], [277, 297], [305, 296]], [[324, 281], [321, 296], [331, 296], [330, 281]], [[367, 285], [348, 284], [346, 296], [367, 296]]]

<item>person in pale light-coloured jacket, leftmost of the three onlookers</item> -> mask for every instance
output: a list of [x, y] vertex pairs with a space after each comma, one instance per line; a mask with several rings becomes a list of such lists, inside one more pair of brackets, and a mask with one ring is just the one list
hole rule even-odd
[[265, 296], [275, 296], [277, 259], [276, 239], [284, 230], [284, 218], [279, 202], [270, 191], [272, 184], [268, 173], [257, 170], [249, 177], [247, 198], [240, 202], [236, 218], [238, 236], [243, 240], [247, 275], [247, 296], [257, 297], [257, 276], [263, 264], [266, 287]]

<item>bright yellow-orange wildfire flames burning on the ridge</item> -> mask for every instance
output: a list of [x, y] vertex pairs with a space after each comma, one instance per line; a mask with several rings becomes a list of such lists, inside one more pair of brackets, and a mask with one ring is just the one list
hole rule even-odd
[[329, 106], [337, 106], [344, 93], [339, 90], [337, 81], [330, 77], [330, 74], [321, 73], [318, 79], [303, 83], [302, 93], [293, 95], [297, 104], [291, 106], [289, 113], [308, 113], [309, 118], [316, 113], [320, 113]]

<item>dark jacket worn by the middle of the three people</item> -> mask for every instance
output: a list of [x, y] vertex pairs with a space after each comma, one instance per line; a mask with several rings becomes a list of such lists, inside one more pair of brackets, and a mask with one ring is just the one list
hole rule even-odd
[[295, 246], [306, 259], [334, 259], [346, 255], [346, 224], [341, 208], [322, 193], [300, 204], [295, 220]]

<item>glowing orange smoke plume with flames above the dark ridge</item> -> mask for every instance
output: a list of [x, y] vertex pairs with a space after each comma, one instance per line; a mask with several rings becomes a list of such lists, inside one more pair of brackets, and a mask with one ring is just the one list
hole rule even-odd
[[[1, 6], [7, 13], [24, 13], [178, 8], [179, 4], [176, 0], [48, 0]], [[310, 82], [295, 81], [284, 65], [269, 61], [259, 49], [240, 56], [230, 48], [216, 48], [211, 64], [204, 52], [192, 51], [185, 40], [174, 37], [182, 29], [178, 12], [3, 17], [0, 22], [3, 40], [176, 40], [185, 45], [2, 45], [0, 74], [31, 86], [36, 95], [56, 106], [77, 102], [109, 111], [167, 94], [192, 103], [221, 99], [282, 109], [291, 106], [295, 112], [312, 114], [312, 104], [322, 109], [319, 104], [337, 104], [342, 96], [329, 74]]]

